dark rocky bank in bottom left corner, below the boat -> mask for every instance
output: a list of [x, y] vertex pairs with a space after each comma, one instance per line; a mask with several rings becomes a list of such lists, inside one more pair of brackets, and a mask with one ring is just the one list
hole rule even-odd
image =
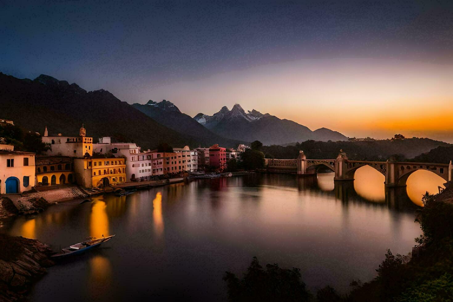
[[53, 251], [38, 240], [0, 234], [0, 301], [23, 300], [53, 265]]

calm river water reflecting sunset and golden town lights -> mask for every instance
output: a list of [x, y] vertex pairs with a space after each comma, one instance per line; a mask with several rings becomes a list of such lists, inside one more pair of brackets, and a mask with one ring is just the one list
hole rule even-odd
[[49, 268], [34, 301], [225, 300], [223, 272], [243, 273], [253, 256], [300, 268], [310, 290], [330, 284], [347, 292], [353, 278], [375, 277], [387, 248], [407, 254], [420, 234], [406, 189], [386, 191], [379, 173], [358, 172], [354, 182], [335, 184], [331, 173], [197, 180], [60, 203], [0, 230], [55, 251], [116, 234]]

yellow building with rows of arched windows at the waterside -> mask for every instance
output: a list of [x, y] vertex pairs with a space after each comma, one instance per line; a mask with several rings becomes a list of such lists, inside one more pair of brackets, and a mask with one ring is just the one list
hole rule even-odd
[[77, 184], [100, 187], [126, 181], [125, 158], [74, 158]]

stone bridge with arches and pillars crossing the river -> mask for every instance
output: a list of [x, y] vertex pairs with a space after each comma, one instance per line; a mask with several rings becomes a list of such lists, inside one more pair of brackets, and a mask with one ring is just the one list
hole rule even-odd
[[370, 166], [386, 177], [386, 186], [405, 186], [410, 174], [417, 170], [428, 170], [440, 177], [445, 182], [452, 180], [452, 162], [447, 163], [410, 163], [410, 162], [369, 162], [348, 160], [346, 153], [340, 150], [335, 159], [307, 159], [300, 151], [297, 159], [265, 159], [268, 172], [297, 173], [299, 175], [316, 174], [320, 168], [330, 169], [335, 173], [334, 180], [354, 180], [354, 173], [358, 168]]

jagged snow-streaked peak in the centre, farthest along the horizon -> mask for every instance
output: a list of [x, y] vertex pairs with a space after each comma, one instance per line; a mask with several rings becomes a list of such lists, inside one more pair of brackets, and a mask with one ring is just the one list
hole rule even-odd
[[265, 145], [303, 142], [308, 139], [319, 141], [348, 139], [347, 136], [327, 128], [312, 131], [304, 125], [292, 120], [281, 120], [269, 113], [262, 114], [255, 109], [246, 112], [239, 104], [235, 104], [231, 110], [223, 106], [211, 116], [198, 113], [193, 119], [223, 137], [243, 141], [259, 140]]

